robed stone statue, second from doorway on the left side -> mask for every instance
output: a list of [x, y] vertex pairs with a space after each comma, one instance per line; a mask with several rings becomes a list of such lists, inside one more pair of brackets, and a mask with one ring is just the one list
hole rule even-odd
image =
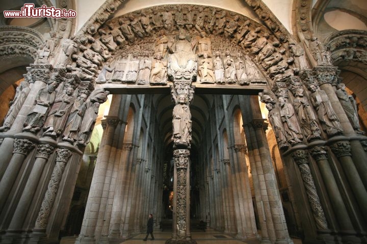
[[73, 103], [63, 132], [63, 141], [73, 143], [77, 139], [82, 118], [86, 110], [87, 95], [82, 93]]

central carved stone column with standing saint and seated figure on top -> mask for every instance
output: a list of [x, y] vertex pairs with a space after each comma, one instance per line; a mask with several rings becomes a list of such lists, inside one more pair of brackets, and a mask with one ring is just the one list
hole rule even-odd
[[180, 31], [175, 43], [168, 45], [171, 55], [168, 60], [168, 78], [171, 85], [173, 108], [172, 141], [174, 156], [173, 221], [172, 238], [166, 244], [196, 243], [190, 232], [190, 148], [191, 112], [189, 105], [194, 97], [197, 61], [189, 36]]

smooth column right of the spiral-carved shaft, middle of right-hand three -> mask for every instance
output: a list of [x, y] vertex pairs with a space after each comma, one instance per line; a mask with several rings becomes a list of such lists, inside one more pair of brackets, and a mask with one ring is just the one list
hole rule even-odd
[[325, 147], [314, 147], [311, 149], [310, 153], [319, 166], [320, 173], [325, 183], [328, 196], [332, 202], [332, 207], [336, 213], [335, 215], [340, 228], [342, 228], [342, 230], [353, 230], [353, 225], [349, 218], [347, 208], [344, 204], [342, 195], [340, 195], [334, 175], [327, 160]]

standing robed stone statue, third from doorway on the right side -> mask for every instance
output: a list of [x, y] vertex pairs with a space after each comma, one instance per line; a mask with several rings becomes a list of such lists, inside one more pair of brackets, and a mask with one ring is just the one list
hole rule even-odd
[[311, 110], [307, 97], [304, 96], [302, 88], [295, 91], [293, 106], [296, 110], [301, 129], [306, 135], [308, 142], [321, 138], [321, 131], [316, 122], [316, 118]]

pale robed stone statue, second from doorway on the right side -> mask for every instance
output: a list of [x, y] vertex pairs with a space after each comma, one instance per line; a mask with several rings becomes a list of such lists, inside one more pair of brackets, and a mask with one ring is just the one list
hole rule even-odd
[[287, 142], [291, 145], [301, 143], [303, 136], [293, 106], [284, 97], [279, 97], [278, 101], [280, 105], [280, 119], [283, 122]]

